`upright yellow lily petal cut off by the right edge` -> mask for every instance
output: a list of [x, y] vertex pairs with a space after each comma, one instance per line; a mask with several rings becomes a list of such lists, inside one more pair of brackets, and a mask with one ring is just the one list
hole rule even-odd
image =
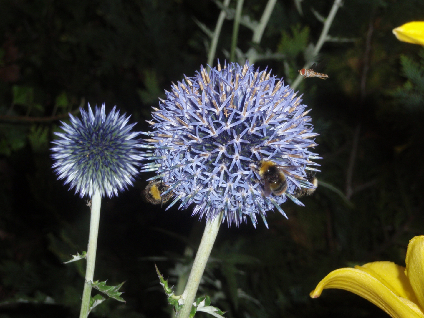
[[424, 306], [424, 236], [416, 236], [409, 241], [406, 251], [405, 274], [418, 298], [421, 307]]

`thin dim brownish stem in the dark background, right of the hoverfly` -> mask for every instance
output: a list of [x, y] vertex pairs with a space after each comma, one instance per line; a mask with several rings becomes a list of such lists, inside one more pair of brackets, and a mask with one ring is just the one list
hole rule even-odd
[[[363, 107], [363, 103], [365, 101], [365, 96], [366, 96], [365, 86], [366, 86], [366, 79], [367, 79], [367, 74], [368, 74], [368, 70], [369, 70], [369, 55], [370, 55], [370, 52], [371, 52], [371, 36], [372, 36], [373, 31], [374, 31], [374, 26], [373, 26], [373, 22], [371, 20], [369, 22], [367, 38], [366, 38], [366, 42], [365, 42], [364, 67], [363, 67], [363, 70], [362, 70], [361, 86], [360, 86], [360, 101], [359, 101], [360, 109], [362, 109], [362, 107]], [[348, 200], [350, 200], [351, 196], [354, 193], [354, 190], [352, 188], [352, 178], [353, 178], [353, 173], [354, 173], [356, 153], [357, 153], [357, 150], [358, 150], [360, 131], [361, 131], [361, 124], [358, 122], [358, 124], [355, 128], [354, 135], [353, 135], [352, 150], [351, 150], [351, 153], [350, 153], [349, 165], [348, 165], [347, 172], [346, 172], [346, 198]]]

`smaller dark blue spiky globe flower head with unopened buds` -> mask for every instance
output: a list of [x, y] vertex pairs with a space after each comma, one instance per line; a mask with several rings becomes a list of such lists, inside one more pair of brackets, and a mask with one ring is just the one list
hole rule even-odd
[[79, 193], [92, 197], [99, 189], [102, 197], [118, 195], [118, 191], [132, 185], [141, 165], [140, 133], [131, 131], [136, 123], [129, 124], [130, 116], [120, 116], [116, 106], [106, 116], [105, 105], [90, 105], [88, 112], [80, 108], [81, 119], [70, 114], [70, 124], [62, 123], [63, 133], [53, 141], [51, 148], [53, 168], [58, 179], [65, 179]]

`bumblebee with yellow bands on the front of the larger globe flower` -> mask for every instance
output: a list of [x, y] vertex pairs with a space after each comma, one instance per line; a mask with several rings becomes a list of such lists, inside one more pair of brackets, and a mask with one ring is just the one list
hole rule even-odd
[[281, 167], [270, 160], [259, 161], [257, 172], [264, 181], [264, 194], [282, 195], [287, 190], [287, 179]]

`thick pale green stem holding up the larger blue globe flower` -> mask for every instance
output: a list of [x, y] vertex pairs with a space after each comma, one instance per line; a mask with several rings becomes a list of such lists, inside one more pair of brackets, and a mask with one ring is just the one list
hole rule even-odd
[[193, 266], [188, 277], [187, 286], [184, 293], [181, 295], [184, 301], [184, 306], [178, 312], [178, 318], [189, 318], [191, 307], [196, 298], [197, 289], [199, 287], [200, 279], [208, 262], [209, 255], [211, 254], [213, 244], [215, 243], [219, 227], [222, 221], [222, 214], [220, 213], [215, 219], [206, 222], [205, 231], [203, 232], [202, 240], [200, 241]]

